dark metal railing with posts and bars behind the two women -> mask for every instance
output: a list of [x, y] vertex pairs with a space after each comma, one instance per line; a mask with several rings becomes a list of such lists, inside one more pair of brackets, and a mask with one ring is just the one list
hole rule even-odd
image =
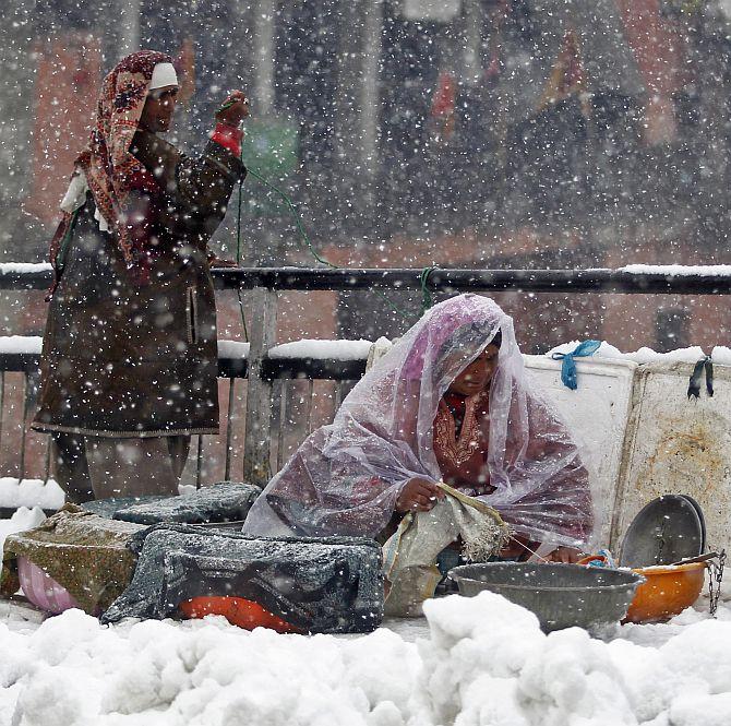
[[[272, 469], [277, 469], [285, 456], [312, 428], [314, 381], [334, 383], [329, 396], [329, 415], [339, 405], [345, 389], [360, 378], [366, 360], [335, 358], [269, 356], [276, 345], [277, 295], [284, 290], [362, 289], [422, 290], [429, 293], [496, 291], [524, 293], [620, 293], [620, 294], [684, 294], [729, 295], [731, 274], [726, 269], [658, 267], [655, 270], [353, 270], [304, 267], [253, 267], [213, 271], [218, 289], [250, 290], [250, 305], [256, 311], [249, 325], [250, 349], [245, 359], [220, 358], [219, 377], [228, 379], [225, 426], [224, 476], [233, 471], [232, 459], [241, 449], [237, 431], [237, 402], [244, 392], [237, 392], [238, 381], [247, 379], [243, 424], [242, 476], [244, 480], [264, 484]], [[48, 265], [0, 265], [0, 290], [45, 289], [50, 285]], [[4, 395], [5, 373], [20, 372], [25, 377], [22, 414], [23, 443], [19, 451], [20, 472], [25, 469], [25, 433], [37, 380], [37, 354], [0, 354]], [[299, 379], [304, 379], [299, 381]], [[299, 395], [298, 409], [288, 388], [304, 386]], [[327, 397], [327, 395], [325, 397]], [[2, 401], [0, 400], [0, 409]], [[300, 410], [301, 408], [301, 410]], [[328, 408], [325, 406], [325, 408]], [[325, 418], [328, 412], [325, 412]], [[286, 440], [284, 424], [293, 419], [299, 436]], [[1, 425], [1, 424], [0, 424]], [[276, 430], [276, 436], [273, 436]], [[0, 428], [0, 437], [2, 429]], [[195, 460], [195, 481], [200, 484], [204, 456], [204, 438], [199, 437]], [[299, 439], [299, 440], [298, 440]], [[274, 465], [273, 465], [274, 464]], [[48, 465], [46, 468], [48, 473]]]

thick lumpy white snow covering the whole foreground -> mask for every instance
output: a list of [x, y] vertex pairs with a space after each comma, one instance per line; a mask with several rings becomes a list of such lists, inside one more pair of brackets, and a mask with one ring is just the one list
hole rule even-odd
[[305, 638], [217, 617], [103, 628], [71, 610], [39, 624], [0, 606], [0, 724], [731, 724], [728, 606], [607, 640], [547, 636], [490, 593], [432, 600], [427, 618]]

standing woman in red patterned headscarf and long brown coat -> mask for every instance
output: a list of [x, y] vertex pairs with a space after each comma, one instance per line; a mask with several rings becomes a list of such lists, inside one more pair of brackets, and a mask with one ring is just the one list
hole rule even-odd
[[33, 428], [52, 437], [69, 501], [177, 493], [191, 435], [218, 433], [207, 242], [247, 174], [249, 110], [230, 94], [191, 158], [157, 136], [177, 93], [168, 56], [120, 61], [61, 203]]

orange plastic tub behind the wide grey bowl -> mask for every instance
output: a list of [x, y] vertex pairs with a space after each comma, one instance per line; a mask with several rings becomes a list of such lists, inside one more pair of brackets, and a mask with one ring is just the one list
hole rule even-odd
[[705, 562], [634, 568], [647, 581], [637, 587], [623, 622], [662, 622], [698, 599]]

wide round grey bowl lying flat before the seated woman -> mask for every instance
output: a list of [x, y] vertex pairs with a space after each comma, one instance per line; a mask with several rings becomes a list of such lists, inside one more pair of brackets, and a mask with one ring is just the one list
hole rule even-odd
[[544, 632], [596, 630], [622, 620], [645, 578], [630, 570], [580, 564], [484, 562], [450, 570], [459, 594], [489, 590], [534, 612]]

